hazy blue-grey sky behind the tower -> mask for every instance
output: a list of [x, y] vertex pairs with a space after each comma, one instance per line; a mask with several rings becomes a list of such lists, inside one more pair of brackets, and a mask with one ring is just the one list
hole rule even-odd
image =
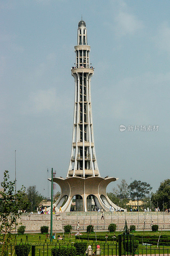
[[[128, 184], [147, 181], [155, 192], [170, 173], [170, 1], [1, 0], [0, 9], [1, 180], [4, 170], [15, 177], [15, 149], [17, 188], [36, 185], [47, 196], [47, 168], [66, 177], [74, 107], [70, 69], [82, 14], [95, 67], [100, 174]], [[126, 131], [120, 132], [121, 124]], [[141, 125], [159, 127], [140, 131]]]

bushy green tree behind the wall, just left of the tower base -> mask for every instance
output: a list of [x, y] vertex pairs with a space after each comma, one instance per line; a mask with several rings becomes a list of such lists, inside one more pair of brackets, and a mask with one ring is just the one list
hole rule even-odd
[[39, 204], [46, 200], [46, 197], [42, 196], [41, 194], [38, 193], [38, 191], [36, 190], [36, 186], [29, 186], [27, 188], [27, 198], [28, 198], [28, 202], [29, 202], [29, 206], [27, 208], [27, 211], [32, 212], [37, 209], [37, 207], [39, 206]]

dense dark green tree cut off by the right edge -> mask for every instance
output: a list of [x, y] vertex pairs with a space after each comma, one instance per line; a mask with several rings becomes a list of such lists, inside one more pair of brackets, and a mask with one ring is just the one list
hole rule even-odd
[[151, 201], [154, 207], [157, 208], [159, 206], [160, 210], [163, 210], [163, 201], [164, 209], [170, 208], [170, 179], [164, 180], [160, 183], [156, 193], [152, 193]]

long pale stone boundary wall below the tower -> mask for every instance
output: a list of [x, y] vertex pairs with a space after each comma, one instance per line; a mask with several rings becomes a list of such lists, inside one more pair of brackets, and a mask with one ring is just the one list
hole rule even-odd
[[[170, 229], [170, 213], [168, 212], [104, 212], [104, 220], [101, 220], [101, 212], [61, 212], [53, 214], [53, 230], [61, 231], [67, 224], [72, 225], [73, 230], [80, 223], [80, 230], [86, 230], [92, 224], [94, 229], [108, 229], [110, 223], [115, 223], [117, 229], [123, 229], [125, 220], [128, 227], [135, 225], [136, 229], [148, 229], [151, 222], [158, 224], [159, 228]], [[50, 229], [50, 214], [22, 213], [17, 220], [18, 226], [26, 226], [26, 231], [40, 231], [41, 226]], [[21, 223], [21, 224], [20, 224]]]

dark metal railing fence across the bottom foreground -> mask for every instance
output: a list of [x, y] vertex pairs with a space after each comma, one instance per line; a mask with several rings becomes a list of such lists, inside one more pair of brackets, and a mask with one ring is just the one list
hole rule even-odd
[[[75, 239], [74, 242], [79, 241], [78, 239]], [[130, 238], [129, 238], [130, 241]], [[70, 240], [69, 242], [65, 242], [63, 241], [55, 241], [53, 240], [52, 243], [49, 242], [49, 240], [45, 240], [45, 242], [41, 241], [41, 237], [39, 238], [39, 241], [37, 244], [32, 245], [29, 243], [28, 239], [26, 238], [26, 242], [20, 241], [20, 245], [22, 244], [27, 244], [30, 245], [30, 251], [29, 254], [26, 253], [26, 251], [23, 249], [20, 249], [20, 252], [16, 253], [15, 251], [15, 246], [16, 246], [16, 239], [14, 240], [14, 242], [12, 244], [8, 245], [8, 249], [7, 249], [7, 254], [6, 255], [10, 255], [10, 256], [80, 256], [80, 254], [78, 254], [75, 250], [74, 247], [74, 242], [73, 240]], [[131, 243], [131, 242], [130, 242]], [[91, 246], [91, 248], [88, 246]], [[100, 248], [97, 248], [97, 245], [100, 245]], [[2, 245], [1, 245], [2, 246]], [[58, 252], [60, 250], [63, 250], [63, 254]], [[59, 249], [59, 251], [58, 251]], [[57, 251], [56, 251], [57, 250]], [[168, 246], [164, 246], [164, 245], [149, 245], [149, 244], [144, 244], [144, 245], [138, 245], [137, 248], [131, 247], [130, 250], [127, 249], [127, 247], [121, 243], [121, 241], [114, 241], [114, 236], [113, 236], [113, 241], [107, 241], [107, 237], [106, 237], [106, 241], [105, 242], [91, 242], [91, 241], [87, 241], [86, 240], [86, 252], [84, 252], [83, 254], [81, 254], [81, 256], [83, 255], [87, 255], [87, 256], [91, 256], [91, 255], [101, 255], [101, 256], [122, 256], [122, 255], [144, 255], [144, 256], [149, 256], [149, 255], [165, 255], [168, 256], [170, 255], [170, 245]]]

